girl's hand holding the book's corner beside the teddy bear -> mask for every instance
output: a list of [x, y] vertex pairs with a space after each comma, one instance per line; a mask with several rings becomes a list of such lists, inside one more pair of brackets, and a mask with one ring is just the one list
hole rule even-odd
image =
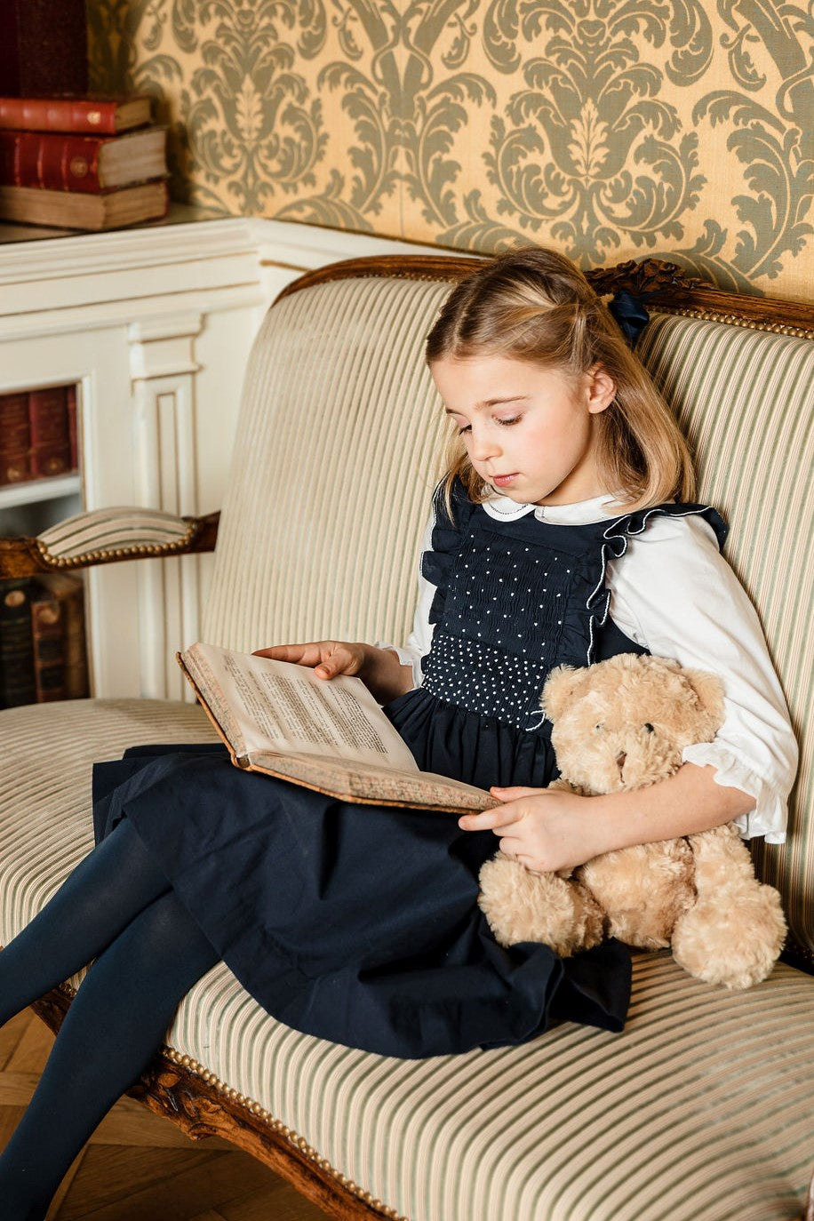
[[502, 805], [480, 814], [464, 814], [458, 825], [466, 832], [494, 832], [500, 836], [500, 851], [527, 869], [536, 873], [575, 869], [605, 851], [586, 805], [593, 799], [561, 789], [492, 788], [489, 791]]

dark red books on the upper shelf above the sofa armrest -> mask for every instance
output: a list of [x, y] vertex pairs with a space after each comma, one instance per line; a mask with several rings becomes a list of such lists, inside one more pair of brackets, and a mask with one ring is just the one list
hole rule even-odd
[[0, 394], [0, 486], [66, 475], [78, 465], [76, 386]]

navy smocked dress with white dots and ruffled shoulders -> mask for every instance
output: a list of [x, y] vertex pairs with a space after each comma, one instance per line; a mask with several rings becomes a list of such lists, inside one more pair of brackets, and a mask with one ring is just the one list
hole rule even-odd
[[[549, 670], [642, 652], [608, 618], [605, 567], [655, 510], [591, 525], [495, 520], [437, 497], [423, 685], [386, 707], [419, 767], [544, 786], [556, 774]], [[492, 832], [455, 814], [350, 805], [232, 766], [225, 747], [144, 746], [94, 769], [101, 839], [128, 818], [240, 983], [273, 1017], [383, 1055], [522, 1043], [552, 1020], [620, 1031], [627, 950], [560, 960], [499, 946], [477, 906]]]

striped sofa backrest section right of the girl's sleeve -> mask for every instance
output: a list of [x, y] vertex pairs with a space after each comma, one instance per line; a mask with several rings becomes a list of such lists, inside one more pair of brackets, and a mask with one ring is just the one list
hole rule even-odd
[[637, 349], [698, 454], [701, 496], [731, 524], [726, 556], [754, 602], [801, 745], [785, 845], [754, 841], [814, 950], [814, 344], [657, 315]]

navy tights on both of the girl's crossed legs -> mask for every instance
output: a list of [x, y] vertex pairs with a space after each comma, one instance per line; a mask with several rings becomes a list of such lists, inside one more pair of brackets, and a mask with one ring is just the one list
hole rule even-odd
[[218, 955], [124, 821], [0, 951], [0, 1026], [92, 960], [0, 1155], [0, 1216], [41, 1221], [82, 1145], [146, 1068]]

